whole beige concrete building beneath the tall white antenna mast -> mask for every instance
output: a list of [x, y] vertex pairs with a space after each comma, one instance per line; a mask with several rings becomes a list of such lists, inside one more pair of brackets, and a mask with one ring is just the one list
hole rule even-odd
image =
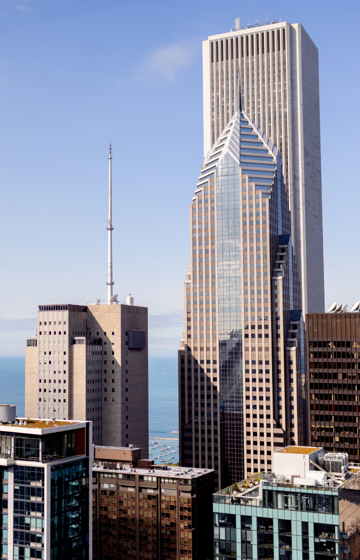
[[[132, 302], [132, 298], [130, 302]], [[93, 442], [148, 452], [147, 307], [39, 305], [25, 415], [93, 422]]]

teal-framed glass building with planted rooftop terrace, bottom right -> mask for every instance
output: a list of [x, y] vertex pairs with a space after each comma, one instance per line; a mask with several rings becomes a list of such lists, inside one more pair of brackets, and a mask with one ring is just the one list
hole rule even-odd
[[213, 494], [214, 560], [357, 559], [360, 465], [353, 467], [337, 488], [283, 484], [269, 473], [246, 498]]

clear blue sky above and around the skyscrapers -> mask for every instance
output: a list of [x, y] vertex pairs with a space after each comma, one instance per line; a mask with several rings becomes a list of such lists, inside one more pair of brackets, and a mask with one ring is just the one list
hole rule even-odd
[[39, 303], [106, 297], [109, 141], [115, 293], [149, 307], [153, 355], [176, 352], [202, 41], [267, 15], [319, 48], [325, 303], [360, 299], [359, 3], [2, 0], [0, 354], [24, 351]]

